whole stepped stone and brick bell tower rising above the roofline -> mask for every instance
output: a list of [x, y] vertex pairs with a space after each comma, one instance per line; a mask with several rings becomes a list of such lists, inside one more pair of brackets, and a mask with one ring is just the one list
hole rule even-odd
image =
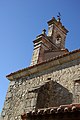
[[68, 30], [62, 25], [60, 16], [48, 21], [48, 35], [46, 30], [36, 37], [31, 66], [48, 60], [52, 57], [63, 55], [68, 50], [65, 48], [65, 39]]

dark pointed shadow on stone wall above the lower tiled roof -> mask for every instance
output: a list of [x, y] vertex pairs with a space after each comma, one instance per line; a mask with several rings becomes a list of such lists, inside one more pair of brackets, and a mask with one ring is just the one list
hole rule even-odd
[[36, 92], [38, 92], [36, 101], [37, 109], [72, 103], [72, 93], [54, 81], [45, 83]]

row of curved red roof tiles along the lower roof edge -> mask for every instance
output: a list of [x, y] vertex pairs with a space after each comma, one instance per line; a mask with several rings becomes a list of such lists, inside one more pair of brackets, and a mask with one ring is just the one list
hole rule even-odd
[[46, 114], [58, 114], [58, 113], [69, 113], [69, 112], [80, 112], [80, 104], [69, 104], [69, 105], [61, 105], [59, 107], [49, 107], [38, 110], [33, 110], [28, 113], [23, 113], [21, 115], [22, 118], [26, 118], [27, 116], [38, 116], [38, 115], [46, 115]]

